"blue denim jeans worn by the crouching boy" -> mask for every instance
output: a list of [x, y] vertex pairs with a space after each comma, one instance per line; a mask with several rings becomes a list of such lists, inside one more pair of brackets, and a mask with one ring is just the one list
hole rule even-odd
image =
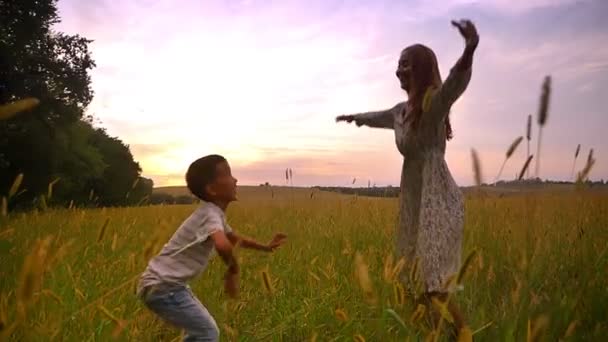
[[219, 341], [215, 320], [186, 286], [159, 290], [143, 296], [146, 306], [166, 322], [185, 330], [185, 342]]

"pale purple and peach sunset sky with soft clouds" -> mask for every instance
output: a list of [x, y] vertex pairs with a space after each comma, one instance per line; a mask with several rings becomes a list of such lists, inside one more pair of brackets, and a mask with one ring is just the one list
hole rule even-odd
[[[222, 154], [239, 184], [398, 185], [403, 157], [391, 130], [335, 116], [407, 99], [395, 68], [423, 43], [445, 77], [464, 43], [450, 20], [469, 18], [480, 45], [473, 78], [451, 111], [446, 161], [473, 183], [471, 149], [491, 182], [526, 134], [536, 154], [543, 78], [553, 92], [540, 176], [569, 180], [589, 149], [591, 179], [608, 179], [608, 1], [605, 0], [59, 0], [55, 28], [92, 39], [88, 107], [156, 186], [182, 185], [188, 165]], [[507, 162], [513, 179], [522, 143]]]

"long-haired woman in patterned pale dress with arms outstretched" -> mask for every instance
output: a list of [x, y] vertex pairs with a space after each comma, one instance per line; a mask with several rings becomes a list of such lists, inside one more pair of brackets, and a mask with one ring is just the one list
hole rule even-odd
[[[408, 261], [418, 260], [425, 298], [445, 300], [447, 280], [460, 267], [464, 224], [462, 193], [445, 162], [446, 140], [452, 137], [450, 108], [471, 78], [473, 53], [479, 36], [468, 20], [452, 22], [465, 39], [465, 49], [445, 82], [441, 82], [437, 58], [431, 49], [416, 44], [401, 53], [397, 78], [408, 101], [395, 107], [355, 115], [336, 121], [355, 122], [395, 130], [399, 152], [404, 157], [397, 248]], [[457, 329], [464, 320], [457, 308], [449, 309]]]

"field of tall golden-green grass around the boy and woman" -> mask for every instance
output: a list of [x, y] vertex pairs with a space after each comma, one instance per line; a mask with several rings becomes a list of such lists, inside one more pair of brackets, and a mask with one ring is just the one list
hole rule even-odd
[[[193, 208], [55, 209], [0, 218], [0, 340], [178, 340], [179, 331], [136, 299], [134, 280]], [[236, 301], [223, 293], [219, 258], [191, 284], [222, 340], [433, 337], [414, 313], [413, 295], [396, 280], [416, 277], [411, 263], [398, 275], [392, 256], [397, 199], [245, 188], [228, 218], [245, 235], [265, 241], [282, 231], [289, 242], [272, 254], [238, 250]], [[469, 192], [463, 260], [476, 254], [453, 300], [474, 339], [607, 336], [607, 227], [602, 192]]]

